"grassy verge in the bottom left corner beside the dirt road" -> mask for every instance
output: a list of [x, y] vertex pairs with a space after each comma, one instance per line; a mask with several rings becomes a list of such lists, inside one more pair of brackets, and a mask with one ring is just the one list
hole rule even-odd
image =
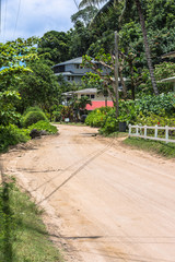
[[42, 211], [14, 182], [0, 187], [0, 261], [62, 262], [49, 240]]

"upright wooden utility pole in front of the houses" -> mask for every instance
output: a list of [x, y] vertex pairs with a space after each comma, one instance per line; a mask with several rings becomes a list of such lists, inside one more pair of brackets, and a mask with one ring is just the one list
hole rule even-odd
[[116, 97], [116, 118], [119, 116], [119, 107], [118, 107], [118, 100], [119, 100], [119, 95], [118, 95], [118, 43], [119, 43], [119, 36], [117, 31], [115, 31], [115, 70], [114, 70], [114, 78], [115, 78], [115, 83], [114, 83], [114, 92], [115, 92], [115, 97]]

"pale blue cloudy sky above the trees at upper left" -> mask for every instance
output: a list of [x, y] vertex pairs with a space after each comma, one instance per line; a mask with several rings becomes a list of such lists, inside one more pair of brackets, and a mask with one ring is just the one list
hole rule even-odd
[[0, 43], [67, 32], [73, 27], [70, 16], [75, 12], [74, 0], [1, 0]]

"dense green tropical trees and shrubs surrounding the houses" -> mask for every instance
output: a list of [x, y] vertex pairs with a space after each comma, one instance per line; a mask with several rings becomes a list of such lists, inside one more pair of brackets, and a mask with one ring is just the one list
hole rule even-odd
[[[78, 121], [91, 100], [73, 97], [68, 106], [62, 106], [62, 93], [88, 87], [109, 95], [114, 105], [119, 106], [117, 119], [114, 109], [95, 110], [86, 118], [88, 124], [106, 128], [105, 132], [118, 129], [119, 121], [154, 122], [153, 118], [155, 121], [160, 118], [161, 123], [172, 123], [175, 103], [168, 93], [173, 84], [161, 80], [175, 76], [175, 59], [163, 60], [161, 56], [175, 50], [174, 0], [82, 0], [80, 7], [71, 16], [73, 26], [68, 32], [50, 31], [40, 39], [31, 37], [0, 43], [0, 128], [7, 133], [5, 138], [9, 133], [19, 133], [22, 141], [27, 140], [28, 133], [20, 131], [26, 114], [43, 115], [24, 114], [28, 107], [38, 106], [49, 120], [69, 117]], [[115, 31], [119, 35], [118, 73], [122, 83], [120, 98], [124, 99], [119, 105], [114, 88]], [[84, 56], [84, 66], [96, 74], [86, 75], [82, 86], [68, 83], [61, 76], [58, 81], [51, 67], [81, 56]], [[110, 70], [106, 76], [100, 68], [94, 68], [92, 57]], [[153, 93], [161, 95], [155, 97]], [[33, 120], [26, 126], [31, 123]], [[2, 132], [0, 136], [5, 141]]]

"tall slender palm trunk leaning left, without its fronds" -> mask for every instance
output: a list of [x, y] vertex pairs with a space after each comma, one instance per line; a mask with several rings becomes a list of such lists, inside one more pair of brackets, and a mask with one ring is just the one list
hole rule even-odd
[[140, 17], [140, 24], [141, 24], [141, 29], [142, 29], [142, 34], [143, 34], [143, 41], [144, 41], [144, 49], [145, 49], [145, 57], [147, 57], [147, 61], [148, 61], [148, 66], [149, 66], [152, 87], [153, 87], [154, 94], [159, 95], [159, 91], [158, 91], [156, 82], [155, 82], [155, 78], [154, 78], [154, 70], [153, 70], [151, 55], [150, 55], [150, 47], [149, 47], [149, 41], [148, 41], [148, 37], [147, 37], [147, 29], [145, 29], [145, 23], [144, 23], [142, 9], [141, 9], [141, 3], [140, 3], [140, 0], [135, 0], [135, 2], [137, 5], [137, 9], [138, 9], [139, 17]]

